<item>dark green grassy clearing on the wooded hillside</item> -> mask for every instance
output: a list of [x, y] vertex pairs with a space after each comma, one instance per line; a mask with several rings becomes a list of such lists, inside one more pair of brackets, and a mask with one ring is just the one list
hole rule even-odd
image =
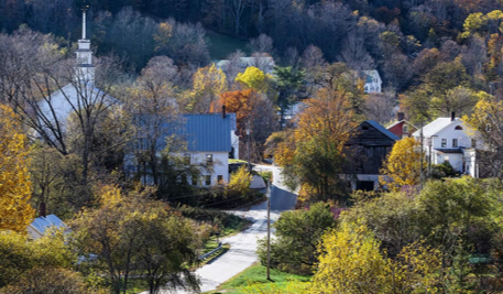
[[227, 56], [237, 50], [244, 52], [247, 55], [250, 54], [247, 48], [248, 41], [240, 40], [215, 32], [207, 31], [206, 36], [208, 37], [208, 50], [212, 61], [220, 61], [227, 58]]

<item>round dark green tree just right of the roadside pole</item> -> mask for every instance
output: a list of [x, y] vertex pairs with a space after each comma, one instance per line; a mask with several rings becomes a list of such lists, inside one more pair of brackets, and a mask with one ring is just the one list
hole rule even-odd
[[[271, 263], [280, 270], [296, 273], [313, 271], [317, 246], [327, 229], [336, 226], [330, 206], [314, 204], [308, 210], [285, 211], [274, 222], [276, 238], [271, 242]], [[259, 257], [266, 262], [266, 240], [259, 241]]]

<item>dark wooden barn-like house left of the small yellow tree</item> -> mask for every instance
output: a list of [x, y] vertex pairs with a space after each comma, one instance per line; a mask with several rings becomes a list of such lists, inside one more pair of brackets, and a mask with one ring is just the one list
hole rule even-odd
[[347, 145], [349, 170], [346, 175], [353, 189], [373, 190], [379, 186], [383, 161], [400, 138], [376, 121], [360, 123]]

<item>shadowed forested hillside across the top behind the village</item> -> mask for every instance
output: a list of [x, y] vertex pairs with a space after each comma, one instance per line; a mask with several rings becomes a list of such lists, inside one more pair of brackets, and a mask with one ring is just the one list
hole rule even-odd
[[265, 34], [272, 43], [248, 51], [282, 65], [296, 65], [315, 46], [329, 63], [378, 68], [385, 87], [398, 92], [423, 84], [441, 62], [459, 61], [470, 87], [488, 92], [503, 70], [497, 0], [2, 1], [0, 28], [10, 33], [26, 24], [69, 46], [80, 34], [83, 4], [98, 54], [117, 54], [136, 72], [155, 55], [179, 66], [207, 65], [215, 59], [207, 32], [245, 42]]

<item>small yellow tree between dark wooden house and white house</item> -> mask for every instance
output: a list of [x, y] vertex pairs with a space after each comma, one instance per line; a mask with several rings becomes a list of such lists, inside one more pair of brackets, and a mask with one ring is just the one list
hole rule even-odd
[[387, 185], [389, 189], [400, 190], [403, 186], [418, 185], [420, 181], [420, 167], [426, 167], [423, 159], [420, 142], [414, 138], [404, 138], [395, 143], [387, 155], [381, 170], [381, 185]]

